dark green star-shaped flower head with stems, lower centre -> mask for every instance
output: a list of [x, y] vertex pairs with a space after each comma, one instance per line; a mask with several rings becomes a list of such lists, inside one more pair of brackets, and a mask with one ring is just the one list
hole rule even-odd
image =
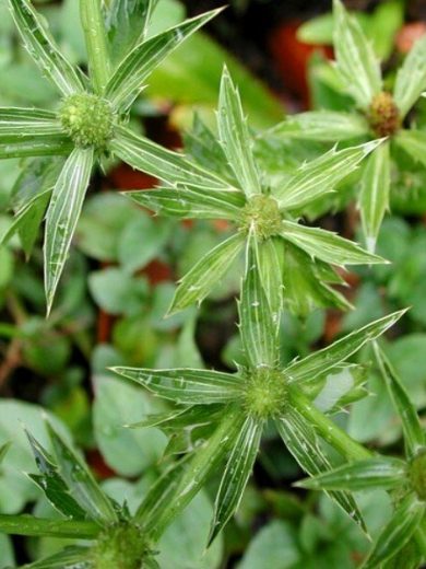
[[[157, 425], [168, 433], [184, 428], [184, 436], [197, 426], [204, 427], [198, 434], [196, 430], [192, 444], [198, 437], [202, 439], [206, 432], [213, 431], [194, 451], [173, 501], [157, 521], [158, 532], [192, 499], [206, 477], [227, 456], [215, 502], [211, 539], [217, 535], [238, 507], [268, 420], [273, 420], [288, 451], [310, 475], [329, 471], [332, 465], [321, 448], [321, 439], [345, 458], [368, 456], [362, 445], [319, 410], [312, 393], [318, 395], [321, 391], [324, 376], [334, 375], [336, 379], [342, 368], [350, 369], [347, 358], [380, 336], [402, 313], [386, 316], [323, 350], [283, 367], [279, 326], [262, 286], [259, 258], [256, 236], [251, 232], [239, 303], [240, 335], [247, 365], [238, 369], [237, 373], [114, 368], [125, 378], [179, 405], [171, 415], [154, 417], [143, 425]], [[350, 392], [352, 387], [358, 393], [358, 386], [352, 385]], [[360, 396], [364, 395], [360, 392]], [[343, 399], [347, 396], [351, 394], [342, 393]], [[338, 491], [331, 496], [364, 526], [356, 502], [350, 495]]]

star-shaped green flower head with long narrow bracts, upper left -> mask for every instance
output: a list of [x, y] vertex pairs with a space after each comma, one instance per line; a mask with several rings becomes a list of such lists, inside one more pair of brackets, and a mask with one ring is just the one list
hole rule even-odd
[[[81, 0], [87, 77], [60, 53], [28, 0], [8, 1], [28, 54], [61, 95], [56, 111], [0, 108], [0, 158], [67, 156], [55, 182], [34, 189], [3, 236], [4, 241], [15, 230], [25, 231], [29, 220], [34, 223], [34, 217], [40, 223], [47, 208], [44, 254], [49, 312], [91, 174], [103, 155], [113, 153], [170, 184], [179, 179], [192, 183], [209, 179], [208, 173], [197, 173], [197, 167], [190, 166], [179, 154], [129, 130], [126, 121], [150, 73], [218, 11], [146, 38], [156, 1], [140, 2], [133, 7], [140, 11], [139, 33], [120, 39], [121, 2], [111, 2], [105, 22], [100, 0]], [[113, 54], [117, 51], [121, 59], [115, 61]], [[214, 179], [211, 184], [214, 185]]]

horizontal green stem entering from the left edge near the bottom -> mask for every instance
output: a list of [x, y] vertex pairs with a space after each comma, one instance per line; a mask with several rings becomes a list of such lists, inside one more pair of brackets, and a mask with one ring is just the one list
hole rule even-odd
[[94, 538], [102, 527], [95, 522], [46, 520], [33, 515], [0, 514], [0, 532], [12, 535]]

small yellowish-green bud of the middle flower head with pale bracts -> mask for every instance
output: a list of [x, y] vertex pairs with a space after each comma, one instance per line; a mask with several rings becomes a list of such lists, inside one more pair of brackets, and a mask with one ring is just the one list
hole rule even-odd
[[242, 209], [239, 222], [241, 231], [248, 232], [253, 229], [261, 240], [265, 240], [279, 235], [281, 227], [279, 204], [270, 196], [253, 196]]

